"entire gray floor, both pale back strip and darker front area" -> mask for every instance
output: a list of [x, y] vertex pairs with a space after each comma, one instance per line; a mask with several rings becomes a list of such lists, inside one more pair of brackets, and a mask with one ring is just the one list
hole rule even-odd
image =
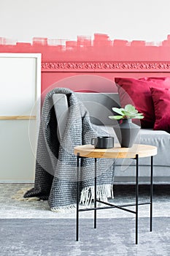
[[[75, 210], [52, 212], [47, 201], [16, 200], [33, 184], [0, 184], [1, 256], [169, 256], [170, 189], [154, 186], [153, 232], [149, 206], [139, 206], [139, 244], [135, 244], [134, 214], [117, 209], [99, 210], [97, 229], [93, 212], [80, 213], [80, 241], [75, 241]], [[116, 204], [134, 202], [132, 186], [115, 186]], [[139, 200], [149, 199], [139, 186]]]

